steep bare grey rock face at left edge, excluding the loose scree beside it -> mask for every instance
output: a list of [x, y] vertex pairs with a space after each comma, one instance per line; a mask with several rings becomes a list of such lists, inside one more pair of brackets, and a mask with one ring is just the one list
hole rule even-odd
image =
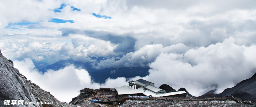
[[27, 85], [24, 83], [19, 70], [13, 67], [11, 60], [0, 53], [0, 106], [15, 106], [15, 107], [39, 107], [39, 104], [15, 104], [4, 105], [4, 100], [24, 100], [37, 102], [37, 99], [29, 91]]

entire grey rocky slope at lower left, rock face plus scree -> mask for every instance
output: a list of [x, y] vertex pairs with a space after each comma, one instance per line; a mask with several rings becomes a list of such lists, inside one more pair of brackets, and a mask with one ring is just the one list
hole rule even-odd
[[[13, 62], [7, 60], [0, 51], [0, 107], [75, 107], [66, 102], [60, 102], [50, 92], [44, 91], [35, 83], [19, 74], [13, 67]], [[24, 100], [24, 102], [47, 101], [53, 104], [14, 104], [4, 105], [4, 100]]]

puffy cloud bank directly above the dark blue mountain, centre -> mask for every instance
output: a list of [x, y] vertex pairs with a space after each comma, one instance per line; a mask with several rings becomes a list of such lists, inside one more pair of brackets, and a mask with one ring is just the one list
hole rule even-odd
[[156, 57], [161, 52], [164, 53], [185, 53], [190, 48], [184, 44], [174, 44], [171, 46], [163, 47], [162, 44], [146, 45], [141, 49], [130, 52], [124, 55], [120, 60], [115, 61], [114, 57], [108, 58], [107, 60], [100, 61], [95, 68], [102, 69], [106, 67], [136, 67], [136, 66], [147, 66], [148, 63], [155, 61]]

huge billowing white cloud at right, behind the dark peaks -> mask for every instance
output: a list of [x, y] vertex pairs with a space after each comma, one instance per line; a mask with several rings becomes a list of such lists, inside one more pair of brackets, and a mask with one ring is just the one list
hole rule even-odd
[[203, 88], [217, 84], [217, 93], [220, 93], [255, 73], [251, 50], [256, 46], [239, 46], [234, 42], [230, 37], [222, 43], [190, 49], [184, 54], [161, 53], [150, 64], [150, 74], [144, 78], [158, 85], [168, 84], [176, 90], [184, 87], [194, 96], [209, 91]]

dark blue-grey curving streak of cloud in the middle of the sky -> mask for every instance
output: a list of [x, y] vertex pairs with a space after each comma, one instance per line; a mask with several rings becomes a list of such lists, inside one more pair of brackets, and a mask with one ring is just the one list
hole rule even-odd
[[82, 34], [87, 35], [92, 38], [104, 40], [104, 41], [110, 41], [114, 44], [119, 44], [116, 49], [114, 49], [115, 53], [118, 54], [126, 54], [130, 52], [135, 52], [134, 45], [136, 42], [136, 39], [130, 37], [130, 36], [117, 36], [114, 34], [111, 34], [110, 32], [105, 31], [92, 31], [92, 30], [83, 30], [80, 31], [78, 29], [60, 29], [62, 36], [69, 36], [69, 34]]

